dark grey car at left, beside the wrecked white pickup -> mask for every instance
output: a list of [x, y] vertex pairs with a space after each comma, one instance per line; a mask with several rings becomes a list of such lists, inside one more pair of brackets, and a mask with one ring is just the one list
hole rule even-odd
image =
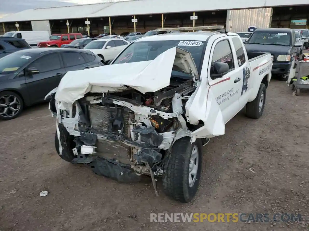
[[43, 102], [67, 71], [104, 65], [91, 51], [36, 48], [0, 59], [0, 119], [11, 120], [23, 107]]

